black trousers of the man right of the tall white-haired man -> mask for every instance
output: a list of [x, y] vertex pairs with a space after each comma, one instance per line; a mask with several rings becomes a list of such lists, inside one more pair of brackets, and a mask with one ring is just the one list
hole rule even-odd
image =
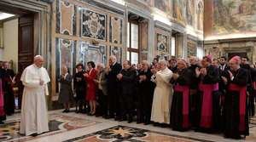
[[126, 115], [131, 118], [132, 116], [132, 94], [121, 94], [119, 97], [119, 105], [120, 105], [120, 118], [126, 118]]

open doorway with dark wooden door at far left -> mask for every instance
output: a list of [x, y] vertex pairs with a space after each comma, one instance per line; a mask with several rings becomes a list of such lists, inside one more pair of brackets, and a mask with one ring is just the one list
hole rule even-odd
[[[26, 66], [31, 65], [34, 56], [34, 13], [26, 9], [17, 9], [11, 6], [0, 6], [0, 60], [9, 65], [1, 66], [4, 76], [10, 87], [9, 95], [12, 98], [4, 98], [8, 107], [21, 108], [23, 85], [20, 82], [22, 71]], [[10, 76], [7, 73], [13, 71]]]

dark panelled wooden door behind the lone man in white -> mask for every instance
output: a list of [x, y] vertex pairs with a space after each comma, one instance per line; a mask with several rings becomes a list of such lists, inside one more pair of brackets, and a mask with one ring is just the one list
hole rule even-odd
[[19, 18], [18, 71], [31, 65], [34, 56], [34, 15], [26, 14]]

